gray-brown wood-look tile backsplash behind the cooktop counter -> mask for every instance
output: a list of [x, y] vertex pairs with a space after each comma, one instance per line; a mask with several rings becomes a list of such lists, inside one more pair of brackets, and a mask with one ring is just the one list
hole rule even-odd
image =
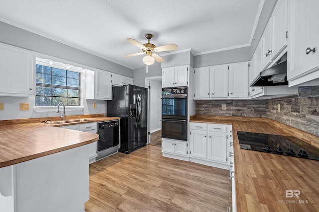
[[319, 136], [319, 86], [299, 87], [298, 95], [268, 100], [197, 100], [196, 114], [267, 117]]

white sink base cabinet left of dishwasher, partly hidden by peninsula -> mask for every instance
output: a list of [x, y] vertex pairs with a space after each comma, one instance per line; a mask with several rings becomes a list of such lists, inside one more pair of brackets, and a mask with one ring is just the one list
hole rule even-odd
[[[69, 130], [78, 130], [88, 133], [97, 134], [97, 122], [78, 124], [78, 125], [67, 125], [60, 128]], [[95, 162], [95, 158], [98, 156], [98, 141], [89, 144], [89, 161], [90, 163]]]

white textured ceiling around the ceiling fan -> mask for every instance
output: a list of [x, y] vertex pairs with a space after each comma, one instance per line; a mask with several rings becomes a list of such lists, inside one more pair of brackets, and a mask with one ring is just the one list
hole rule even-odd
[[[249, 46], [264, 0], [1, 0], [0, 20], [131, 69], [126, 41], [178, 45], [195, 55]], [[169, 53], [169, 52], [165, 52]], [[163, 54], [163, 53], [162, 53]], [[160, 55], [162, 55], [160, 54]]]

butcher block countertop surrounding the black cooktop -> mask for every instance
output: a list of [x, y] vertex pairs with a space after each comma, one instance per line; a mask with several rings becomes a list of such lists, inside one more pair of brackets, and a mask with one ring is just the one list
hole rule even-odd
[[232, 125], [237, 212], [319, 211], [319, 161], [241, 149], [237, 131], [294, 136], [317, 153], [319, 137], [267, 118], [196, 115], [190, 122]]

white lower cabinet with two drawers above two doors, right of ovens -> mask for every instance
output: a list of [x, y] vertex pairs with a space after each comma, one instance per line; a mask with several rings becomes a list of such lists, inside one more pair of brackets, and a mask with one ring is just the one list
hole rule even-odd
[[190, 161], [229, 169], [231, 125], [191, 123], [190, 127]]

